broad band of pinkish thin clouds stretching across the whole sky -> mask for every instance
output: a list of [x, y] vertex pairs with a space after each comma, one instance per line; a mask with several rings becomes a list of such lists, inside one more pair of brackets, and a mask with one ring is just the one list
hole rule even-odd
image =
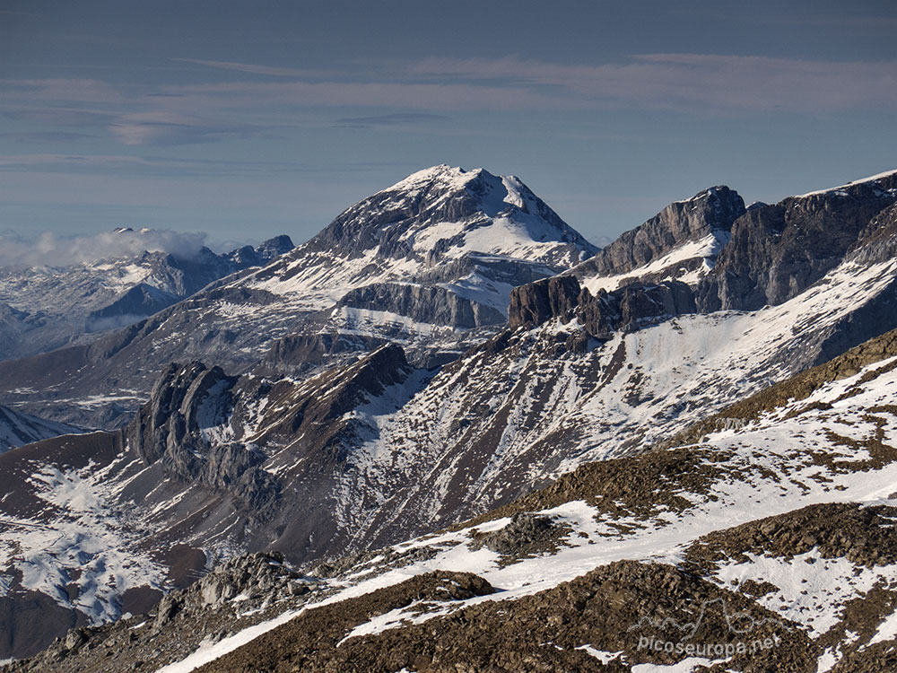
[[[571, 65], [502, 58], [428, 58], [327, 73], [231, 61], [178, 59], [231, 70], [215, 83], [124, 86], [96, 79], [0, 80], [2, 114], [51, 133], [105, 129], [123, 145], [200, 144], [262, 137], [315, 108], [406, 109], [344, 115], [335, 127], [401, 128], [448, 121], [452, 111], [673, 110], [745, 116], [897, 109], [897, 61], [838, 62], [710, 54], [642, 54]], [[272, 75], [271, 81], [257, 77]], [[8, 136], [16, 140], [12, 136]], [[39, 142], [39, 135], [22, 135]], [[46, 135], [44, 140], [61, 141]], [[74, 137], [71, 139], [74, 140]]]

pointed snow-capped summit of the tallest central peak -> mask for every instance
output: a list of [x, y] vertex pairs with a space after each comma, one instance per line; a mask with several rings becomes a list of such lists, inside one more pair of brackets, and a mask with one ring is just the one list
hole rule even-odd
[[561, 270], [597, 249], [514, 176], [447, 165], [419, 170], [353, 205], [309, 241], [358, 257], [428, 266], [467, 254], [526, 259]]

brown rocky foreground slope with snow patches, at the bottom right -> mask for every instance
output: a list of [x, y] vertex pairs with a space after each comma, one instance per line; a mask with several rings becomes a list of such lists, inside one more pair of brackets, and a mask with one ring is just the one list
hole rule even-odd
[[897, 332], [452, 529], [235, 559], [13, 671], [889, 671]]

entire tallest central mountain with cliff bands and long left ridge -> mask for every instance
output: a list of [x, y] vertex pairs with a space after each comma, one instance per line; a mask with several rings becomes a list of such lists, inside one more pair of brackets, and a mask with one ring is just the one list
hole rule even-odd
[[517, 178], [422, 170], [267, 267], [67, 354], [74, 377], [51, 382], [45, 363], [10, 364], [3, 399], [34, 408], [51, 398], [57, 415], [100, 424], [85, 392], [128, 398], [120, 404], [133, 410], [161, 366], [194, 357], [239, 371], [270, 353], [292, 373], [389, 342], [415, 362], [444, 362], [504, 325], [513, 287], [595, 250]]

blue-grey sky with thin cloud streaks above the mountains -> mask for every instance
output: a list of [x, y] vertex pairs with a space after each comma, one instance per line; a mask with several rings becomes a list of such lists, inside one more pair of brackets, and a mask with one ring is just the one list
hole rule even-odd
[[890, 0], [0, 0], [0, 232], [300, 241], [449, 163], [600, 242], [897, 168], [894, 34]]

